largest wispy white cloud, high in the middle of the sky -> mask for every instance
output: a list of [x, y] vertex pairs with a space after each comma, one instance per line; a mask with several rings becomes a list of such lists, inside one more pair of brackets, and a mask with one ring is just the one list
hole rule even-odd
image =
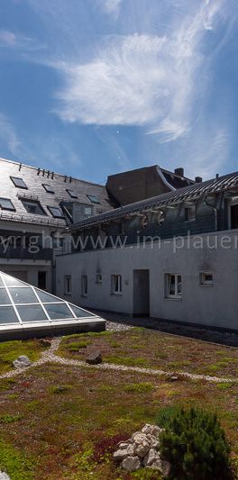
[[[104, 2], [111, 8], [116, 4]], [[161, 142], [188, 133], [193, 102], [206, 88], [201, 43], [221, 8], [222, 0], [206, 0], [196, 13], [188, 8], [173, 32], [116, 35], [85, 64], [55, 64], [65, 84], [57, 93], [59, 117], [85, 124], [146, 126]], [[203, 71], [199, 85], [198, 69]]]

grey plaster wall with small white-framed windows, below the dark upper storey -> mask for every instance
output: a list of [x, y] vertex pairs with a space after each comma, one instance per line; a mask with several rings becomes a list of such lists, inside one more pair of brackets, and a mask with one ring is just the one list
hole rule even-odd
[[[222, 231], [177, 239], [176, 252], [175, 240], [170, 239], [161, 241], [160, 248], [155, 242], [153, 248], [148, 244], [61, 256], [56, 258], [57, 294], [88, 309], [132, 314], [133, 269], [149, 269], [151, 317], [238, 330], [237, 239], [238, 231]], [[201, 272], [213, 274], [213, 286], [200, 285]], [[96, 284], [96, 273], [102, 275], [102, 284]], [[165, 276], [169, 273], [182, 276], [181, 299], [166, 298]], [[121, 295], [111, 294], [114, 274], [123, 277]], [[72, 277], [72, 294], [67, 296], [65, 275]], [[81, 296], [81, 275], [88, 278], [87, 297]]]

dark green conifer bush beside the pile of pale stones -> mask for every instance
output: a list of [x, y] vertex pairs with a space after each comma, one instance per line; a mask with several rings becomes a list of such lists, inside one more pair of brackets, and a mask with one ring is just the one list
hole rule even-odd
[[158, 425], [161, 457], [171, 463], [169, 478], [228, 480], [230, 448], [215, 413], [191, 408], [160, 412]]

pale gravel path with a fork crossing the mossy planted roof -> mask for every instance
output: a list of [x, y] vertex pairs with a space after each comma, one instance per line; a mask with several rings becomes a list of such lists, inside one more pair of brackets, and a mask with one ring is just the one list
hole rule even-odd
[[[73, 367], [92, 367], [91, 365], [87, 365], [86, 362], [81, 360], [73, 360], [70, 358], [62, 358], [55, 354], [55, 352], [59, 349], [59, 344], [61, 341], [61, 337], [56, 337], [51, 340], [50, 349], [43, 351], [41, 354], [40, 360], [37, 362], [33, 362], [31, 367], [23, 367], [23, 368], [16, 368], [11, 372], [7, 372], [0, 376], [1, 378], [12, 378], [13, 376], [18, 376], [22, 374], [24, 371], [28, 370], [32, 367], [39, 367], [46, 363], [56, 363], [59, 365], [65, 366], [73, 366]], [[232, 377], [217, 377], [217, 376], [207, 376], [207, 375], [197, 375], [197, 374], [189, 374], [188, 372], [168, 372], [165, 370], [159, 370], [154, 368], [142, 368], [142, 367], [126, 367], [124, 365], [114, 365], [110, 363], [102, 363], [99, 365], [94, 365], [94, 368], [98, 370], [120, 370], [122, 372], [135, 372], [141, 373], [149, 376], [178, 376], [178, 378], [190, 378], [191, 380], [206, 380], [207, 382], [215, 382], [215, 383], [237, 383], [238, 378]], [[1, 480], [1, 477], [0, 477]]]

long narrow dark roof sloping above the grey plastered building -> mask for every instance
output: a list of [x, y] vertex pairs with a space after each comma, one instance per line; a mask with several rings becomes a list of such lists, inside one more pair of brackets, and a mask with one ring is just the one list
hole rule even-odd
[[152, 208], [163, 208], [170, 204], [179, 204], [186, 201], [196, 200], [200, 197], [213, 195], [219, 192], [230, 190], [234, 187], [238, 187], [238, 172], [234, 172], [224, 177], [213, 178], [206, 182], [195, 183], [192, 186], [186, 186], [166, 194], [154, 196], [141, 202], [125, 205], [121, 208], [116, 208], [112, 212], [102, 213], [94, 217], [90, 217], [87, 220], [83, 220], [75, 224], [71, 230], [77, 230], [85, 227], [94, 226], [98, 223], [110, 222], [115, 219], [122, 218], [126, 215], [133, 213], [146, 213], [147, 210]]

